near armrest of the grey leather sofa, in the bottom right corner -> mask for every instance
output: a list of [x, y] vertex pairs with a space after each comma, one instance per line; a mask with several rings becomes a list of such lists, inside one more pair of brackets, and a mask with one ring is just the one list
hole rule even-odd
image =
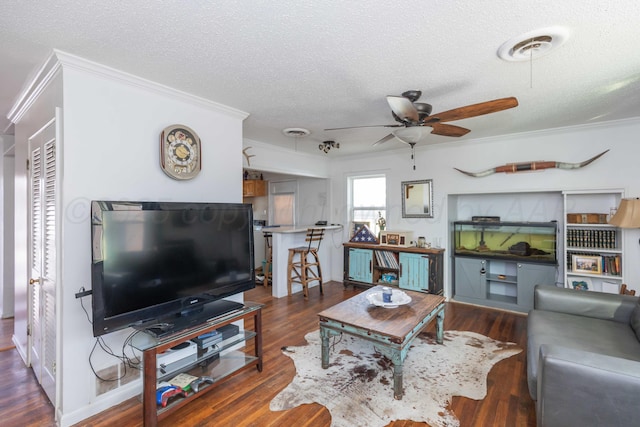
[[538, 426], [637, 426], [640, 362], [541, 345]]

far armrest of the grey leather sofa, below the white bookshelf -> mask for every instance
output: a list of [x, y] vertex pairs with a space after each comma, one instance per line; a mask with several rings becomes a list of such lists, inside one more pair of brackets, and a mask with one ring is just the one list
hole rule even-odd
[[629, 323], [638, 297], [602, 292], [576, 291], [557, 286], [537, 285], [534, 307], [577, 316]]

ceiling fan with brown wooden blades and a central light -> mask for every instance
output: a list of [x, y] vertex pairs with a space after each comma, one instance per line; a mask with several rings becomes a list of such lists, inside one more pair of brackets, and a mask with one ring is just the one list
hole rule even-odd
[[422, 92], [419, 90], [408, 90], [404, 92], [402, 96], [387, 96], [387, 102], [389, 103], [389, 107], [391, 107], [391, 114], [398, 124], [350, 126], [325, 130], [354, 129], [360, 127], [418, 128], [415, 129], [418, 132], [410, 133], [394, 130], [389, 135], [373, 144], [378, 145], [395, 137], [400, 141], [411, 145], [413, 148], [413, 145], [415, 145], [422, 136], [422, 132], [419, 129], [421, 127], [432, 128], [431, 133], [434, 135], [460, 137], [469, 133], [470, 130], [445, 122], [496, 113], [498, 111], [518, 106], [518, 100], [514, 97], [509, 97], [454, 108], [453, 110], [443, 111], [437, 114], [431, 114], [432, 107], [430, 104], [417, 102], [418, 99], [420, 99], [420, 96], [422, 96]]

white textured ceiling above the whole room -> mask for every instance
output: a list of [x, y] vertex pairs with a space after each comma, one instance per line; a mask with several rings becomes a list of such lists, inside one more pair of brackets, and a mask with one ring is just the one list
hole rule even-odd
[[[325, 155], [372, 147], [394, 124], [386, 95], [422, 90], [439, 112], [515, 96], [517, 108], [453, 122], [462, 138], [640, 117], [640, 2], [3, 0], [0, 131], [25, 81], [60, 49], [246, 111], [245, 137]], [[569, 33], [533, 61], [506, 41], [539, 28]], [[298, 141], [287, 127], [312, 133]]]

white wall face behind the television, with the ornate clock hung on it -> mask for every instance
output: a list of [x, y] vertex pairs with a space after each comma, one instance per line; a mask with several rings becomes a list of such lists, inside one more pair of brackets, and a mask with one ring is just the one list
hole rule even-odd
[[[242, 118], [213, 104], [76, 70], [64, 71], [62, 349], [64, 413], [91, 405], [91, 327], [74, 293], [90, 287], [92, 199], [242, 201]], [[200, 174], [176, 181], [159, 166], [160, 133], [184, 124], [202, 141]], [[107, 340], [122, 342], [124, 334]], [[139, 390], [138, 390], [139, 391]], [[84, 414], [83, 414], [84, 415]], [[82, 419], [82, 418], [80, 418]]]

